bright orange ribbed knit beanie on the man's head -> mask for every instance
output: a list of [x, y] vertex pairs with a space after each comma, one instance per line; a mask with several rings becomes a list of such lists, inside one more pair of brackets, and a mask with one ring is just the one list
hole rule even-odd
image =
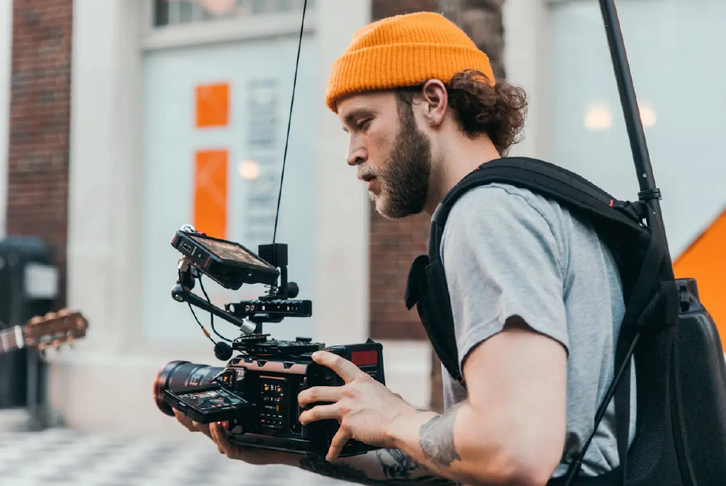
[[489, 57], [454, 22], [434, 12], [387, 17], [357, 30], [335, 59], [325, 104], [337, 113], [340, 96], [429, 79], [448, 83], [466, 69], [481, 71], [494, 83]]

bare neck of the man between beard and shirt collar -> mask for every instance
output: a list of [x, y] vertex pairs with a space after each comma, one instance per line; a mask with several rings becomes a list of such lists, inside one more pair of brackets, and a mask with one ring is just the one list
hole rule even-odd
[[479, 165], [490, 160], [499, 159], [501, 155], [489, 140], [482, 136], [470, 139], [465, 135], [451, 137], [439, 145], [438, 163], [431, 167], [431, 181], [428, 200], [424, 207], [425, 213], [433, 211], [459, 181]]

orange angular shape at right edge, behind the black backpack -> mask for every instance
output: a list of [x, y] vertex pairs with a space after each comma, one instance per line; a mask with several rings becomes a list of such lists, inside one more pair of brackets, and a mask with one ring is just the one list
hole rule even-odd
[[726, 210], [673, 263], [679, 279], [693, 278], [726, 345]]

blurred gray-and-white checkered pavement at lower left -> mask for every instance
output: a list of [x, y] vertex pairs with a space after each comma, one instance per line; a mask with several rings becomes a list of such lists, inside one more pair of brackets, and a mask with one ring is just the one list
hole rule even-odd
[[0, 432], [2, 486], [342, 486], [283, 466], [232, 461], [204, 440], [119, 440], [69, 429]]

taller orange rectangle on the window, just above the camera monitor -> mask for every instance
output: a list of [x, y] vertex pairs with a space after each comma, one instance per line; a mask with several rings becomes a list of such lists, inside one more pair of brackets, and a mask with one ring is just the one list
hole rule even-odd
[[194, 227], [197, 231], [227, 238], [227, 150], [195, 153]]

